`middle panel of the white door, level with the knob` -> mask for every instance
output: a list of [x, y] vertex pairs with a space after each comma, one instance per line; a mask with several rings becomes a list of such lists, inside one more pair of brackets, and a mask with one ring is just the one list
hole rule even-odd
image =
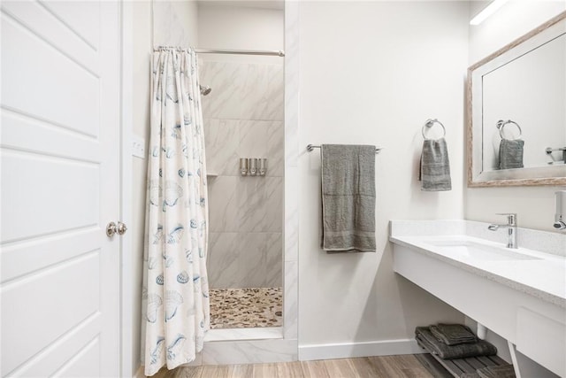
[[[2, 151], [1, 158], [3, 172], [11, 181], [2, 190], [2, 211], [10, 219], [2, 225], [3, 242], [96, 225], [98, 164], [19, 150]], [[25, 209], [42, 212], [30, 214]]]

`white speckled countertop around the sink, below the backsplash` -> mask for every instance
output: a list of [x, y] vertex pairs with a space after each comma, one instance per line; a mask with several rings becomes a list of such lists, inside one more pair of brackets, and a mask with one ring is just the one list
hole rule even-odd
[[[566, 308], [566, 257], [527, 248], [509, 249], [505, 243], [465, 233], [395, 235], [407, 233], [396, 233], [394, 222], [392, 220], [391, 242]], [[566, 242], [566, 238], [563, 240]], [[558, 241], [560, 245], [561, 239]], [[457, 245], [461, 243], [485, 249], [486, 254], [473, 255], [458, 251]], [[493, 258], [488, 253], [493, 253]]]

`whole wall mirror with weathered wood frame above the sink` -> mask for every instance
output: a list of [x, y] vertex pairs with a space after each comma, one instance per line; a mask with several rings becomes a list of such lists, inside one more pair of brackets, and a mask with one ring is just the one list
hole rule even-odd
[[566, 183], [566, 12], [468, 69], [468, 185]]

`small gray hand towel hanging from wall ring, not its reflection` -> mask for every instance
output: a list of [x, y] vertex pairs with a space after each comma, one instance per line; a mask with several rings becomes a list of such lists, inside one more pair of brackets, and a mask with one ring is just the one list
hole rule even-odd
[[444, 138], [424, 140], [418, 178], [422, 181], [421, 190], [441, 191], [452, 189], [448, 149]]

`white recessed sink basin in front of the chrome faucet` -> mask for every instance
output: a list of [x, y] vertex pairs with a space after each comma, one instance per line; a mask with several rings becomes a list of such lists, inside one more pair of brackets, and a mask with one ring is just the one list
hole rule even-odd
[[427, 241], [436, 251], [445, 255], [461, 258], [475, 258], [485, 261], [539, 260], [516, 250], [493, 247], [467, 240], [432, 240]]

